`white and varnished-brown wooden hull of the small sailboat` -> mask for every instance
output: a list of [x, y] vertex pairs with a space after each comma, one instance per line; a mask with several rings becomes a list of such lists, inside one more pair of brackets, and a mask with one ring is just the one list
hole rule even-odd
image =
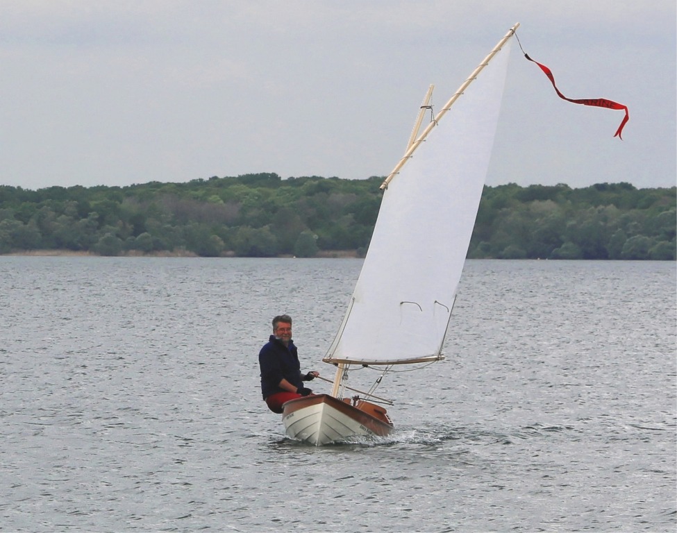
[[363, 400], [351, 405], [347, 398], [339, 400], [328, 394], [286, 402], [282, 420], [289, 437], [315, 446], [351, 437], [385, 437], [393, 428], [383, 407]]

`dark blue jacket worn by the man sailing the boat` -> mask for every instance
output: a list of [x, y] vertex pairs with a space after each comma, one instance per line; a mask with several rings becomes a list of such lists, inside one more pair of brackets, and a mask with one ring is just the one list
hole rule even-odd
[[258, 364], [261, 367], [261, 393], [264, 400], [271, 394], [285, 391], [278, 387], [283, 378], [294, 387], [303, 387], [301, 363], [293, 341], [285, 346], [271, 335], [268, 344], [258, 354]]

